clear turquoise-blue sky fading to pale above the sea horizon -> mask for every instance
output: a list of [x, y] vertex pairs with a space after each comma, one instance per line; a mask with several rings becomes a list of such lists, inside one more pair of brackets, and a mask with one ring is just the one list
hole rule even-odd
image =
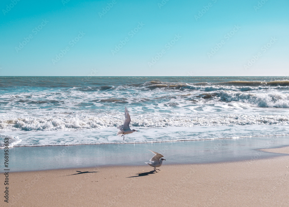
[[0, 9], [0, 76], [289, 75], [288, 0], [2, 0]]

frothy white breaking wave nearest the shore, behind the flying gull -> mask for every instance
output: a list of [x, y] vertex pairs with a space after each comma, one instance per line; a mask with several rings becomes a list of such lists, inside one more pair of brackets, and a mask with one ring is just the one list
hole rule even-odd
[[[230, 105], [233, 106], [233, 105]], [[229, 107], [230, 107], [229, 106]], [[234, 106], [233, 106], [234, 107]], [[236, 107], [234, 107], [236, 108]], [[197, 110], [197, 108], [191, 108]], [[205, 110], [205, 108], [204, 108]], [[1, 131], [14, 130], [40, 130], [40, 131], [71, 131], [80, 129], [101, 129], [106, 127], [116, 127], [122, 124], [122, 120], [115, 117], [42, 117], [42, 118], [1, 118]], [[164, 126], [221, 126], [221, 125], [289, 125], [287, 115], [236, 115], [218, 114], [208, 117], [207, 114], [198, 113], [197, 116], [190, 115], [179, 117], [177, 115], [169, 117], [134, 116], [131, 126], [136, 127], [164, 127]]]

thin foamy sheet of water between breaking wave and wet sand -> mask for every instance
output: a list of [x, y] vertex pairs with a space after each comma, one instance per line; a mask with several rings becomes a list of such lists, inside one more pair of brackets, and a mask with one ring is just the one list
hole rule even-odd
[[[128, 144], [238, 137], [288, 135], [289, 126], [194, 126], [194, 127], [134, 127], [139, 133], [117, 137], [116, 127], [78, 131], [10, 131], [0, 135], [9, 137], [11, 146], [65, 146], [80, 144]], [[17, 137], [19, 136], [19, 138]], [[1, 146], [3, 148], [3, 146]]]

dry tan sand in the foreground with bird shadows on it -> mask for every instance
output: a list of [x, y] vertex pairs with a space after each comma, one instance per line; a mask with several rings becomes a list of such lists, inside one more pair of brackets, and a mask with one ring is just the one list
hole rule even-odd
[[289, 206], [289, 155], [166, 163], [158, 173], [148, 165], [10, 173], [9, 204], [1, 206]]

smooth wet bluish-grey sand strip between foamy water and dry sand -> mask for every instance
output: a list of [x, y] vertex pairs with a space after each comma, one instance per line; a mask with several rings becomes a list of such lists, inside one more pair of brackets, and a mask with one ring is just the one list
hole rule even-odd
[[9, 167], [17, 172], [94, 166], [144, 166], [153, 150], [167, 164], [203, 164], [283, 156], [260, 151], [289, 146], [289, 136], [246, 137], [144, 144], [10, 148]]

